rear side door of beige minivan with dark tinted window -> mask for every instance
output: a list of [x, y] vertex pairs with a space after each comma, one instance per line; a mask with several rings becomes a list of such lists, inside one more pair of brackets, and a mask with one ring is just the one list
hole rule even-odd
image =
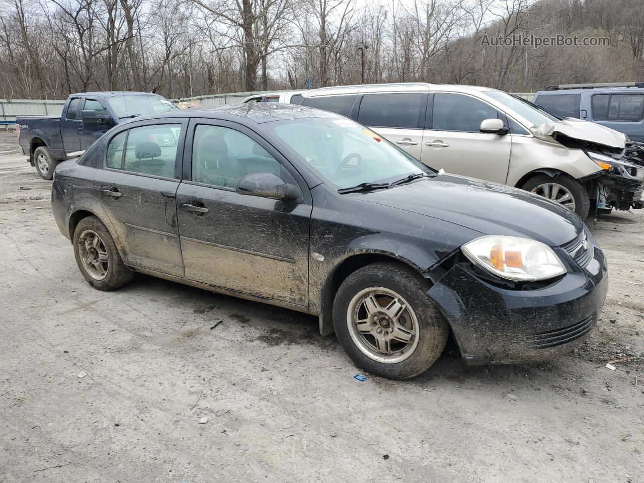
[[426, 105], [422, 92], [365, 94], [357, 120], [420, 160]]

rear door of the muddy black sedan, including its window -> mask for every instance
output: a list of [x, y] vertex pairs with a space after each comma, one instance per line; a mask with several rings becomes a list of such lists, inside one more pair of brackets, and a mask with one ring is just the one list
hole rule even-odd
[[187, 120], [147, 122], [154, 124], [137, 123], [109, 140], [94, 185], [122, 242], [125, 263], [182, 277], [176, 191]]

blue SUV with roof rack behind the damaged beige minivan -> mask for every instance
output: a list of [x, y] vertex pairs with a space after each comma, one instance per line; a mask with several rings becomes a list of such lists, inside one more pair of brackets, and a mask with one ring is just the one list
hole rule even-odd
[[533, 102], [559, 117], [596, 122], [644, 142], [644, 82], [548, 86]]

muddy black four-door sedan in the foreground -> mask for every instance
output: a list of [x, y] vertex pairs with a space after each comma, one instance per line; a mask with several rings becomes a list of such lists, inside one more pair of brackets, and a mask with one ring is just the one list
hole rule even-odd
[[470, 364], [565, 353], [607, 291], [576, 214], [290, 104], [118, 124], [57, 167], [52, 206], [96, 289], [142, 272], [315, 314], [357, 366], [394, 379], [450, 334]]

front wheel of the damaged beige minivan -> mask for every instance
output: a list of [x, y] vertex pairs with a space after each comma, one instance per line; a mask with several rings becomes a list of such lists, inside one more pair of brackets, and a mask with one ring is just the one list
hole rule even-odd
[[588, 216], [591, 202], [588, 191], [580, 182], [568, 175], [561, 174], [553, 178], [549, 175], [537, 175], [530, 178], [523, 189], [544, 196], [549, 200], [574, 211], [582, 220]]

